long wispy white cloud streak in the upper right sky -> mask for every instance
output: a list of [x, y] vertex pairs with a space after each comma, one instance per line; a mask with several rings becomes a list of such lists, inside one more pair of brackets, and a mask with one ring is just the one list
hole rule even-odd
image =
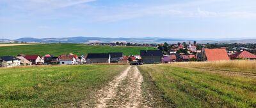
[[[118, 13], [108, 13], [101, 15], [98, 19], [103, 21], [115, 22], [120, 20], [129, 20], [139, 17], [156, 17], [165, 15], [168, 17], [202, 17], [202, 18], [256, 18], [256, 13], [252, 11], [206, 11], [197, 8], [196, 6], [203, 6], [205, 4], [220, 2], [219, 0], [212, 1], [196, 1], [185, 4], [167, 4], [162, 6], [153, 6], [149, 8], [132, 9], [126, 11], [119, 11]], [[192, 10], [188, 10], [192, 9]], [[118, 10], [118, 9], [116, 9]]]

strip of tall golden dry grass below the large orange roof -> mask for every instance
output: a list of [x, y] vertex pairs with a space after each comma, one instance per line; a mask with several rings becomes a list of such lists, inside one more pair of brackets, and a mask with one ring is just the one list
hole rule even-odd
[[230, 60], [218, 62], [180, 62], [172, 64], [182, 67], [200, 67], [202, 69], [218, 69], [222, 71], [239, 71], [256, 73], [256, 60]]

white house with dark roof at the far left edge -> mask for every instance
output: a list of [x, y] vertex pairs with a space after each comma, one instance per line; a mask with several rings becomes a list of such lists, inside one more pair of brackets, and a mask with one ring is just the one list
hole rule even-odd
[[0, 67], [15, 67], [19, 66], [20, 61], [12, 56], [0, 57]]

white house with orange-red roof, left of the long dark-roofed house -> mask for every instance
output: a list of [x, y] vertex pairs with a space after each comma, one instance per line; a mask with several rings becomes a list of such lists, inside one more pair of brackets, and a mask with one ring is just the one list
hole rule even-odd
[[77, 64], [78, 59], [77, 55], [74, 55], [72, 53], [68, 55], [60, 55], [58, 58], [61, 65], [75, 65]]

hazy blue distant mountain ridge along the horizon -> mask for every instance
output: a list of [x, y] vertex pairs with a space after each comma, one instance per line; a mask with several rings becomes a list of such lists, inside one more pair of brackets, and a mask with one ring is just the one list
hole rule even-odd
[[[3, 39], [0, 39], [2, 42]], [[197, 41], [197, 43], [256, 43], [256, 38], [225, 38], [225, 39], [204, 39], [204, 38], [172, 38], [172, 37], [131, 37], [131, 38], [111, 38], [111, 37], [60, 37], [60, 38], [33, 38], [22, 37], [19, 39], [4, 39], [4, 42], [19, 41], [27, 43], [111, 43], [116, 41], [125, 41], [127, 43], [178, 43]]]

